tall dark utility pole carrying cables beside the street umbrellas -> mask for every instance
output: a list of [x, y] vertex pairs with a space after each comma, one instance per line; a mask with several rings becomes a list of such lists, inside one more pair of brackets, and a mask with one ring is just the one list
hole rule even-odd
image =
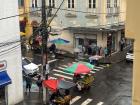
[[[48, 65], [48, 60], [47, 60], [48, 29], [47, 29], [46, 2], [45, 2], [45, 0], [42, 0], [41, 35], [42, 35], [43, 76], [45, 77], [45, 79], [48, 79], [48, 73], [46, 70], [46, 65]], [[47, 88], [45, 88], [45, 87], [43, 87], [43, 102], [44, 102], [44, 104], [47, 104], [47, 102], [48, 102], [48, 91], [47, 91]]]

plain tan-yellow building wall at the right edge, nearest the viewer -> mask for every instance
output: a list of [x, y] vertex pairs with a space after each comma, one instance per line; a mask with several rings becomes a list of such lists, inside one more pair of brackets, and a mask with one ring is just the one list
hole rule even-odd
[[127, 0], [126, 37], [134, 39], [133, 105], [140, 105], [140, 1]]

